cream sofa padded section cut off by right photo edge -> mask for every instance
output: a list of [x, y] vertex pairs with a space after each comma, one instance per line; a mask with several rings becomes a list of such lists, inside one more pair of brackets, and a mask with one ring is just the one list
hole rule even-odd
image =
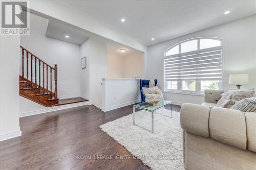
[[247, 150], [256, 152], [256, 114], [246, 112], [245, 120], [247, 131]]

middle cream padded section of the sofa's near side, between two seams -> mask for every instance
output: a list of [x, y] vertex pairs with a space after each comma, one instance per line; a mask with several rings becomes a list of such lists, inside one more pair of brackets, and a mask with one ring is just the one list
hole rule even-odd
[[246, 124], [243, 112], [214, 107], [210, 110], [209, 135], [233, 147], [246, 149]]

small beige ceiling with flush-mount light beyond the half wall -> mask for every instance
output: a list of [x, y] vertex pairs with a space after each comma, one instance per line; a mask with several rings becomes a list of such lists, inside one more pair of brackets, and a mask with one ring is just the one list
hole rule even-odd
[[[120, 50], [121, 49], [125, 49], [125, 53], [121, 53]], [[123, 44], [119, 44], [116, 42], [109, 42], [108, 43], [108, 48], [107, 48], [108, 54], [115, 54], [118, 56], [131, 56], [134, 55], [136, 53], [142, 53], [138, 50], [135, 50], [133, 48], [127, 47]]]

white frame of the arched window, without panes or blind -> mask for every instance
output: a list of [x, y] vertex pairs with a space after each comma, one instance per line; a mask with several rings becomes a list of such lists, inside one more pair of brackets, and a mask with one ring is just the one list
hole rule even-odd
[[[221, 42], [220, 46], [215, 46], [215, 47], [209, 47], [209, 48], [203, 48], [200, 50], [200, 39], [212, 39], [212, 40], [218, 40]], [[187, 41], [192, 41], [192, 40], [197, 40], [197, 50], [195, 51], [189, 51], [189, 52], [185, 52], [185, 53], [181, 53], [181, 44]], [[179, 46], [179, 53], [178, 54], [174, 54], [174, 55], [168, 55], [166, 56], [165, 54], [169, 51], [172, 50], [172, 48]], [[197, 38], [190, 38], [190, 39], [186, 39], [183, 41], [180, 41], [170, 47], [168, 47], [165, 51], [164, 51], [164, 59], [165, 57], [169, 57], [169, 56], [175, 56], [175, 55], [180, 55], [180, 54], [193, 54], [193, 53], [197, 53], [199, 51], [202, 50], [210, 50], [211, 48], [220, 48], [222, 49], [222, 69], [221, 69], [221, 75], [222, 75], [222, 81], [220, 81], [220, 89], [222, 89], [222, 84], [223, 84], [223, 39], [220, 37], [197, 37]], [[164, 63], [164, 59], [163, 59], [163, 63]], [[191, 91], [191, 90], [182, 90], [182, 81], [177, 81], [177, 90], [176, 89], [166, 89], [167, 87], [167, 81], [165, 81], [165, 69], [163, 67], [163, 89], [164, 92], [173, 92], [173, 93], [182, 93], [182, 94], [194, 94], [194, 95], [204, 95], [204, 91], [201, 91], [201, 81], [195, 81], [195, 91]]]

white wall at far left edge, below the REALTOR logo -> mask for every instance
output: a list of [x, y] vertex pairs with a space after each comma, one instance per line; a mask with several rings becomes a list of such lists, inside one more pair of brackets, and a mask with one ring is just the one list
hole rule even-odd
[[0, 36], [0, 141], [19, 130], [19, 36]]

